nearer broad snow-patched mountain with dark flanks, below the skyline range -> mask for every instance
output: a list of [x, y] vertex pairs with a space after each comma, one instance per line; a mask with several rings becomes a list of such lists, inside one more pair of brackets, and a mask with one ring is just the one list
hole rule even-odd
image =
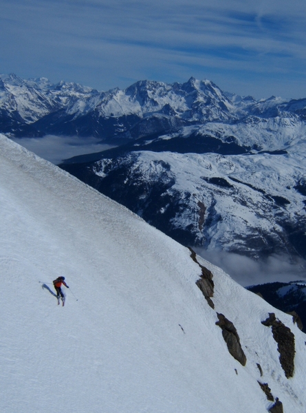
[[303, 138], [255, 153], [239, 145], [240, 136], [226, 142], [195, 132], [138, 140], [95, 154], [102, 158], [97, 162], [83, 157], [61, 166], [184, 245], [306, 258]]

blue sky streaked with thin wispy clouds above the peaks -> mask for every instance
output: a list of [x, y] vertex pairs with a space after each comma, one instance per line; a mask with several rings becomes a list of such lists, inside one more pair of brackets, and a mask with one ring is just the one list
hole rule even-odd
[[0, 73], [306, 97], [305, 0], [0, 0]]

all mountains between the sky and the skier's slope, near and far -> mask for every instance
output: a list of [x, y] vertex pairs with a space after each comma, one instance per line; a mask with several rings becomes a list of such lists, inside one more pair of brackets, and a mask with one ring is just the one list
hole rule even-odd
[[190, 78], [98, 92], [1, 76], [0, 131], [117, 145], [61, 167], [185, 245], [306, 258], [306, 99]]

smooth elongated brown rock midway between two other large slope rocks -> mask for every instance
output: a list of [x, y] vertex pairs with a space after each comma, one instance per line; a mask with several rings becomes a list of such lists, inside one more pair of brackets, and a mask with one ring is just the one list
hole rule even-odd
[[226, 341], [228, 351], [230, 352], [232, 357], [234, 357], [234, 359], [239, 361], [242, 366], [245, 366], [246, 357], [241, 348], [239, 335], [236, 328], [234, 327], [234, 324], [232, 324], [232, 321], [228, 320], [223, 314], [217, 313], [217, 316], [219, 321], [217, 321], [216, 324], [222, 330], [223, 339], [224, 341]]

